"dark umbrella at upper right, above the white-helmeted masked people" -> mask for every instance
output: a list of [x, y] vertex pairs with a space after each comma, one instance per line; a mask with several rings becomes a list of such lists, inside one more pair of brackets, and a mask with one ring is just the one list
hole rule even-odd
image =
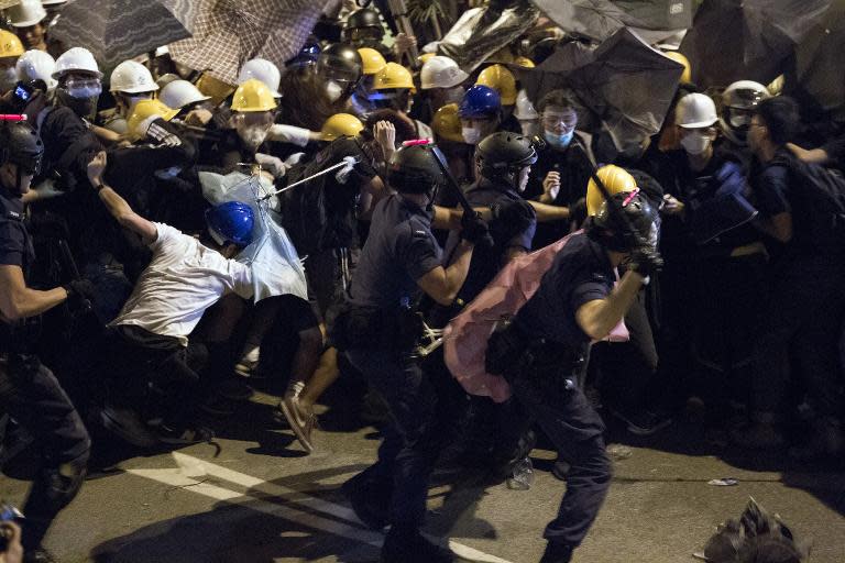
[[705, 0], [681, 53], [699, 86], [736, 80], [768, 84], [832, 0]]

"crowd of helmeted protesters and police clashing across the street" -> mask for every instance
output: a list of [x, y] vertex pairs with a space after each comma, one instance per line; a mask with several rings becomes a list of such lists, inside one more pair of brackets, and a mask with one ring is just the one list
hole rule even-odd
[[[537, 432], [568, 484], [541, 561], [570, 561], [610, 486], [602, 417], [649, 437], [695, 413], [714, 441], [842, 455], [845, 136], [795, 100], [701, 91], [667, 52], [684, 73], [660, 132], [618, 143], [579, 128], [573, 91], [520, 85], [574, 41], [548, 22], [463, 69], [344, 8], [227, 84], [166, 52], [103, 74], [51, 41], [56, 4], [23, 0], [0, 29], [0, 415], [43, 452], [24, 561], [54, 561], [41, 543], [91, 426], [145, 450], [209, 441], [267, 379], [308, 453], [323, 393], [369, 386], [383, 443], [343, 490], [389, 526], [387, 562], [451, 561], [419, 532], [436, 463], [505, 478]], [[468, 395], [420, 319], [443, 329], [549, 245], [490, 340], [509, 398]]]

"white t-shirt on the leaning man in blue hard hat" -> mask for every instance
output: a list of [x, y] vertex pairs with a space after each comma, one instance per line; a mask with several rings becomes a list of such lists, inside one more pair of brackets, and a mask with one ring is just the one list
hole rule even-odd
[[252, 271], [173, 227], [153, 224], [158, 231], [150, 244], [153, 260], [111, 324], [134, 324], [187, 344], [202, 313], [223, 294], [252, 296]]

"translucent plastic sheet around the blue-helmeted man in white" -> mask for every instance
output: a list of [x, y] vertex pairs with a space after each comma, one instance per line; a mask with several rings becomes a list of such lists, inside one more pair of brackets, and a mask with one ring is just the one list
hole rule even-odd
[[220, 174], [200, 172], [202, 196], [211, 203], [241, 201], [255, 214], [253, 242], [243, 249], [237, 261], [252, 268], [254, 302], [267, 297], [292, 294], [308, 299], [299, 255], [279, 224], [281, 218], [272, 211], [275, 198], [259, 202], [259, 197], [273, 190], [273, 184], [261, 176], [242, 173]]

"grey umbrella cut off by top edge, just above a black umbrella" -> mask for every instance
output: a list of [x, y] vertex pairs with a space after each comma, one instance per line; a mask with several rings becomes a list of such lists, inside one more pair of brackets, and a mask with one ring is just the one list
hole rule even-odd
[[692, 0], [531, 0], [560, 29], [605, 41], [633, 27], [649, 44], [692, 25]]

